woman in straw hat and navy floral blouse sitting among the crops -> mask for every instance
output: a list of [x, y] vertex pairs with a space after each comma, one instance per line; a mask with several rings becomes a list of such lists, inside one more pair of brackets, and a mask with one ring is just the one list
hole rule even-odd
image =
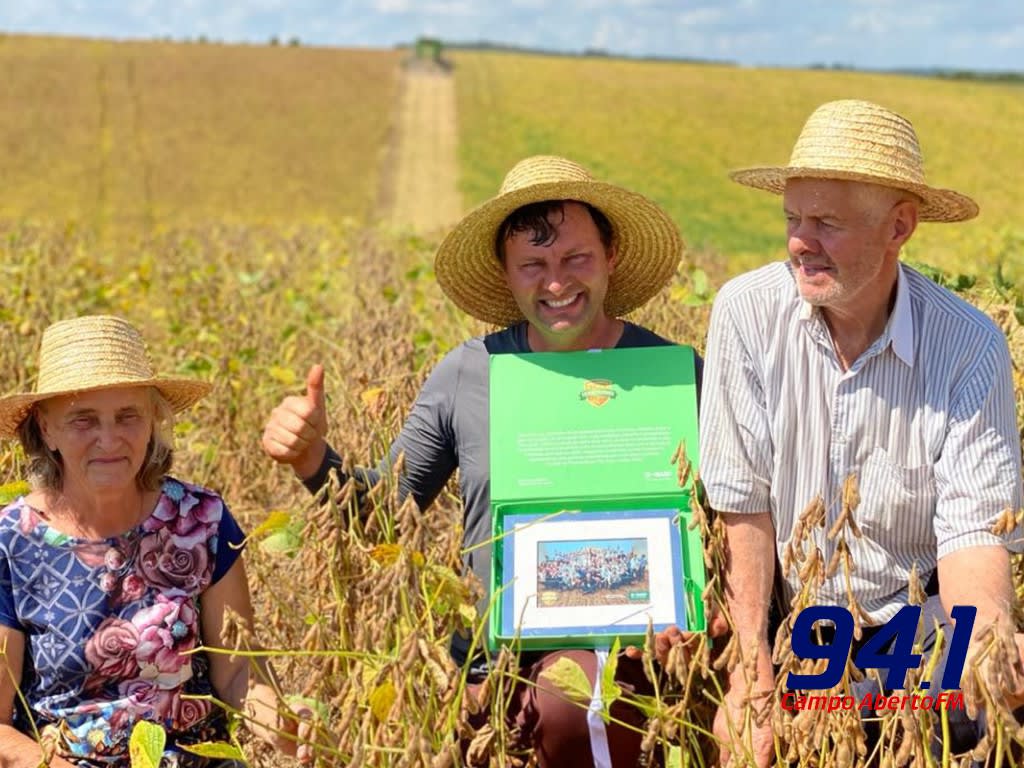
[[228, 608], [253, 617], [223, 500], [167, 475], [171, 417], [208, 390], [155, 376], [132, 326], [88, 316], [50, 326], [36, 391], [0, 399], [34, 484], [0, 512], [0, 764], [128, 766], [147, 720], [167, 732], [162, 765], [211, 766], [180, 749], [226, 738], [203, 695], [247, 705], [296, 753], [265, 666], [251, 683], [244, 657], [189, 653], [226, 645]]

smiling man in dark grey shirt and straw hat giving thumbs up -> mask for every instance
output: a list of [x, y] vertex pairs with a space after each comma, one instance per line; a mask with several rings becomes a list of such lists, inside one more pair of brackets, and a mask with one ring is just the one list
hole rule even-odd
[[[441, 243], [437, 280], [469, 314], [503, 330], [474, 338], [449, 353], [424, 384], [412, 414], [379, 470], [404, 455], [399, 480], [425, 509], [458, 467], [465, 507], [466, 565], [489, 582], [488, 355], [669, 344], [620, 316], [653, 297], [675, 274], [683, 253], [679, 231], [654, 203], [595, 180], [584, 168], [555, 157], [518, 163], [498, 197], [469, 213]], [[289, 464], [311, 492], [341, 459], [327, 444], [324, 371], [313, 366], [304, 396], [286, 397], [273, 411], [263, 446]], [[378, 475], [371, 474], [371, 484]], [[481, 602], [485, 609], [487, 599]], [[664, 640], [664, 638], [663, 638]], [[457, 637], [460, 663], [475, 652]], [[595, 654], [568, 651], [591, 683]], [[523, 678], [537, 680], [559, 654], [546, 654]], [[618, 684], [646, 691], [640, 663], [622, 659]], [[604, 727], [599, 717], [566, 703], [544, 684], [525, 686], [513, 718], [546, 766], [633, 766], [640, 755], [643, 718], [612, 712], [633, 728]]]

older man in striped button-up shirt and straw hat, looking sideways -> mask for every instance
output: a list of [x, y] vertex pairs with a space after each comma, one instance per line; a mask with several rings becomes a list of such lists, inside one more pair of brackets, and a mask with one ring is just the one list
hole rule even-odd
[[[768, 605], [775, 579], [782, 605], [801, 590], [801, 568], [787, 567], [798, 530], [822, 564], [848, 548], [855, 569], [822, 569], [816, 602], [850, 607], [861, 643], [907, 604], [912, 573], [935, 595], [926, 625], [948, 626], [953, 606], [972, 605], [974, 638], [993, 622], [1011, 626], [1008, 550], [1021, 541], [1012, 523], [993, 532], [1021, 506], [1006, 339], [898, 260], [919, 221], [964, 221], [978, 206], [929, 185], [910, 123], [865, 101], [823, 104], [787, 166], [731, 177], [782, 196], [790, 259], [727, 284], [708, 334], [702, 479], [726, 523], [732, 624], [757, 654], [755, 679], [743, 666], [730, 675], [716, 722], [727, 740], [743, 730], [749, 690], [771, 700]], [[844, 502], [854, 520], [845, 527]], [[818, 524], [801, 523], [809, 503]], [[1018, 703], [1016, 692], [1004, 703]], [[963, 720], [954, 750], [976, 738]], [[766, 765], [770, 726], [748, 735]]]

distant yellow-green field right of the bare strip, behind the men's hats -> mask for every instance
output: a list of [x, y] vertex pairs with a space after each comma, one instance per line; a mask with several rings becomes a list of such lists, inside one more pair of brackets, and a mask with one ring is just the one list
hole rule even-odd
[[784, 165], [815, 106], [864, 98], [911, 120], [932, 183], [981, 206], [963, 226], [922, 226], [907, 256], [971, 273], [1001, 258], [1024, 278], [1020, 86], [507, 53], [455, 61], [467, 205], [493, 195], [519, 158], [565, 155], [664, 205], [695, 254], [734, 272], [784, 255], [784, 230], [780, 200], [727, 172]]

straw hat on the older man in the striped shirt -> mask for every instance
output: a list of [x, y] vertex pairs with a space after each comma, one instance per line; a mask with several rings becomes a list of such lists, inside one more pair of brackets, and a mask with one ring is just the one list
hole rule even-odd
[[790, 178], [866, 181], [912, 191], [922, 221], [965, 221], [978, 204], [951, 189], [929, 186], [918, 134], [906, 118], [870, 101], [829, 101], [804, 124], [784, 168], [744, 168], [733, 181], [781, 195]]

